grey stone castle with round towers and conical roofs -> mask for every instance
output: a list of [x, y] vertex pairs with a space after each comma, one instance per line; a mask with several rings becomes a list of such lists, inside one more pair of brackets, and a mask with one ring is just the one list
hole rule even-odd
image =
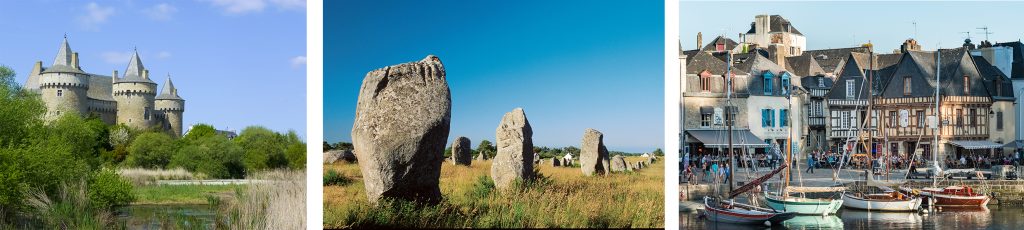
[[75, 112], [96, 116], [104, 123], [124, 124], [139, 130], [158, 129], [181, 136], [181, 118], [185, 100], [171, 83], [170, 75], [157, 94], [157, 83], [135, 51], [123, 76], [89, 74], [79, 65], [78, 53], [72, 51], [66, 36], [57, 56], [49, 67], [36, 61], [25, 88], [41, 95], [46, 104], [46, 119]]

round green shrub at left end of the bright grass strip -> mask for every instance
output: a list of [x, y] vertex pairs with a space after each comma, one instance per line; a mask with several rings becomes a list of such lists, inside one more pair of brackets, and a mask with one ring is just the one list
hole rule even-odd
[[96, 209], [111, 209], [135, 201], [132, 184], [113, 170], [96, 172], [89, 181], [89, 201]]

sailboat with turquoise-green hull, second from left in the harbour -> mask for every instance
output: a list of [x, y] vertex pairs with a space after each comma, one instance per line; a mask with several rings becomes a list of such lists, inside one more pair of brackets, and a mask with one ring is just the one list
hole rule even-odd
[[[791, 92], [791, 93], [793, 92], [793, 85], [790, 85], [790, 89], [787, 90], [787, 92]], [[786, 97], [788, 98], [790, 109], [792, 110], [793, 109], [793, 99], [790, 96], [786, 96]], [[793, 113], [790, 113], [787, 116], [792, 117]], [[792, 121], [792, 120], [790, 120], [790, 121]], [[792, 162], [793, 162], [793, 129], [792, 128], [790, 129], [790, 137], [786, 138], [786, 142], [787, 142], [786, 143], [786, 152], [787, 153], [786, 153], [786, 157], [785, 157], [785, 165], [790, 166], [790, 165], [792, 165]], [[777, 148], [775, 148], [775, 149], [777, 149]], [[799, 170], [798, 170], [797, 173], [801, 173], [801, 172], [799, 172]], [[821, 216], [827, 216], [827, 215], [835, 215], [836, 212], [839, 212], [839, 209], [843, 205], [843, 199], [836, 199], [836, 198], [808, 198], [808, 197], [800, 197], [800, 196], [791, 196], [790, 195], [790, 189], [791, 189], [791, 187], [788, 186], [788, 184], [790, 184], [790, 175], [791, 175], [790, 169], [786, 169], [785, 180], [783, 182], [783, 186], [782, 186], [781, 191], [779, 193], [772, 194], [772, 193], [768, 192], [767, 190], [764, 191], [765, 200], [768, 202], [768, 206], [771, 206], [774, 210], [780, 210], [780, 211], [785, 211], [785, 212], [794, 212], [794, 213], [797, 213], [797, 214], [800, 214], [800, 215], [821, 215]], [[825, 191], [825, 192], [842, 191], [841, 188], [837, 188], [837, 187], [823, 187], [823, 188], [801, 187], [801, 188], [804, 189], [804, 191], [807, 191], [807, 190], [816, 190], [816, 191]]]

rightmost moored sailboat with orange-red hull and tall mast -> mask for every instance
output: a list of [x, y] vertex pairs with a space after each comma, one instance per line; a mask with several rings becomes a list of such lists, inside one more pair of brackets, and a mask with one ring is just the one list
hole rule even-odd
[[[940, 62], [942, 60], [941, 59], [942, 58], [941, 51], [936, 50], [935, 56], [936, 56], [936, 59], [937, 59], [936, 63], [941, 63]], [[940, 74], [941, 74], [941, 71], [942, 71], [941, 70], [941, 64], [936, 64], [935, 68], [936, 68], [935, 70], [936, 71], [935, 72], [935, 82], [936, 82], [936, 84], [938, 84], [939, 83], [939, 77], [941, 76]], [[938, 89], [938, 87], [935, 88], [935, 110], [939, 111], [939, 89]], [[935, 126], [936, 126], [936, 128], [938, 127], [938, 125], [935, 125]], [[935, 142], [933, 142], [933, 143], [939, 143], [939, 136], [938, 135], [939, 135], [938, 132], [935, 132]], [[938, 149], [938, 144], [933, 144], [933, 146], [934, 146], [935, 149]], [[938, 151], [935, 150], [933, 152], [938, 152]], [[938, 154], [935, 154], [935, 153], [932, 154], [932, 163], [934, 164], [934, 167], [935, 167], [935, 173], [939, 174], [939, 172], [941, 172], [942, 168], [939, 167], [939, 162], [938, 162], [938, 156], [937, 155]], [[988, 195], [985, 195], [983, 193], [977, 193], [977, 192], [974, 191], [973, 188], [971, 188], [970, 186], [967, 186], [967, 185], [948, 186], [948, 187], [945, 187], [945, 188], [939, 188], [938, 187], [938, 175], [933, 175], [932, 176], [932, 187], [922, 188], [920, 190], [919, 189], [912, 189], [912, 188], [906, 188], [906, 187], [900, 187], [900, 190], [904, 190], [904, 191], [907, 191], [907, 192], [913, 192], [913, 193], [920, 193], [921, 195], [929, 197], [930, 199], [932, 199], [932, 201], [934, 201], [935, 205], [940, 205], [940, 206], [985, 206], [985, 205], [988, 204], [988, 201], [991, 200], [991, 198], [988, 197]]]

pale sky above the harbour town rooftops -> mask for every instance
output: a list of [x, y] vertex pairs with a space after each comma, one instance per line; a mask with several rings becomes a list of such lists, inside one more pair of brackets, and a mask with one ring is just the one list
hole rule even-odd
[[[979, 44], [988, 27], [992, 42], [1018, 41], [1017, 18], [1024, 2], [689, 2], [679, 3], [683, 49], [696, 48], [721, 34], [733, 40], [746, 33], [757, 14], [780, 14], [807, 37], [808, 49], [858, 46], [867, 41], [878, 52], [892, 52], [907, 38], [923, 49], [959, 47], [967, 35]], [[712, 10], [721, 9], [721, 10]], [[723, 14], [724, 13], [724, 14]], [[913, 22], [916, 21], [916, 37]], [[724, 30], [724, 31], [723, 31]]]

